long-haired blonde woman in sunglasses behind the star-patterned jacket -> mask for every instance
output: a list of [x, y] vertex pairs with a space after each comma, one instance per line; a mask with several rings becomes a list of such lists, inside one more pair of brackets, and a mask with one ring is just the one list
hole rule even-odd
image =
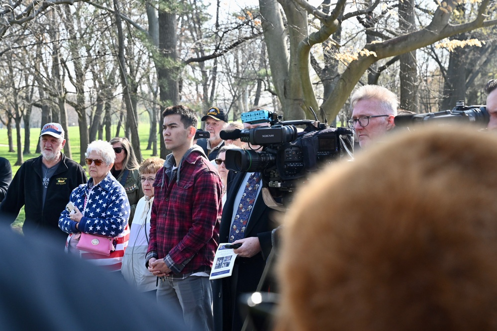
[[129, 216], [129, 226], [131, 226], [136, 204], [143, 197], [140, 172], [138, 171], [140, 165], [136, 160], [133, 147], [131, 147], [131, 143], [127, 138], [115, 137], [110, 139], [109, 142], [115, 152], [114, 166], [110, 169], [110, 173], [121, 183], [128, 196], [129, 205], [131, 206], [131, 214]]

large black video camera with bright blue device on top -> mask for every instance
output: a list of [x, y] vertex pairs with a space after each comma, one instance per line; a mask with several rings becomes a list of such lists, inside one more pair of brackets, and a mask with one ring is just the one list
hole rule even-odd
[[[242, 113], [242, 121], [250, 124], [269, 123], [252, 129], [221, 131], [221, 139], [238, 139], [262, 146], [252, 149], [228, 149], [226, 168], [233, 171], [262, 173], [263, 197], [266, 205], [284, 210], [285, 199], [298, 183], [322, 165], [342, 157], [352, 157], [354, 132], [346, 127], [328, 127], [317, 120], [281, 121], [281, 116], [268, 110]], [[296, 125], [305, 125], [298, 132]], [[273, 199], [270, 199], [273, 198]], [[282, 199], [277, 204], [274, 198]], [[272, 201], [271, 201], [272, 200]]]

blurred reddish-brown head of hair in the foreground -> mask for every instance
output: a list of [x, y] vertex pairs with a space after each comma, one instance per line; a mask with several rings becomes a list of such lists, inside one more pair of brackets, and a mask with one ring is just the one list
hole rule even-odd
[[425, 127], [294, 199], [278, 331], [497, 330], [497, 137]]

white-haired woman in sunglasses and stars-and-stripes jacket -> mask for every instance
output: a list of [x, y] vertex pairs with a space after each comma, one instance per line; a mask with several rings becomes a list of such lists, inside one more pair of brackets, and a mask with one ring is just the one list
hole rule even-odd
[[[112, 145], [96, 140], [88, 145], [86, 163], [90, 179], [73, 190], [69, 198], [74, 211], [66, 208], [59, 218], [59, 227], [69, 233], [66, 249], [111, 271], [121, 269], [121, 260], [128, 245], [129, 202], [122, 185], [110, 174], [115, 153]], [[113, 238], [115, 250], [109, 256], [90, 253], [77, 247], [81, 233]]]

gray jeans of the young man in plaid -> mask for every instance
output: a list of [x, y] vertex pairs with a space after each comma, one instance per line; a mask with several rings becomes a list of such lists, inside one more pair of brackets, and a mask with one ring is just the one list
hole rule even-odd
[[[209, 277], [189, 276], [181, 280], [159, 280], [157, 303], [181, 316], [191, 331], [213, 331], [212, 289]], [[176, 315], [179, 314], [179, 315]]]

